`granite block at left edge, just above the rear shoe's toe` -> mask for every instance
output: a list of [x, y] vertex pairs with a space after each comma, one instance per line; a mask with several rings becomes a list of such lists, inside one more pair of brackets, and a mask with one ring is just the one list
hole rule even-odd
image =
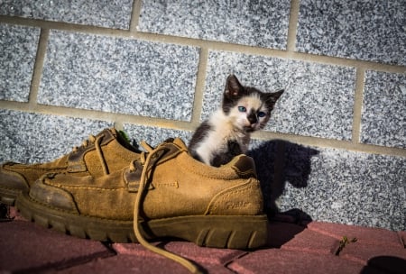
[[0, 162], [54, 160], [112, 123], [48, 114], [0, 110]]

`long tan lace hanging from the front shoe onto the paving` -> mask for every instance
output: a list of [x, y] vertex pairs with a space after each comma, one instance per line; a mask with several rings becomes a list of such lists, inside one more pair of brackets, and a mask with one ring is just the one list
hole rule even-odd
[[[140, 217], [141, 200], [142, 200], [144, 189], [148, 183], [149, 171], [151, 170], [150, 169], [151, 167], [149, 167], [151, 160], [153, 160], [155, 158], [155, 156], [157, 156], [156, 153], [158, 151], [161, 151], [163, 149], [163, 147], [161, 144], [157, 148], [153, 149], [152, 146], [150, 146], [146, 142], [141, 142], [141, 145], [147, 152], [142, 152], [141, 157], [140, 157], [140, 163], [143, 165], [143, 171], [141, 173], [140, 186], [138, 187], [137, 196], [135, 197], [135, 202], [134, 202], [134, 234], [135, 234], [135, 237], [136, 237], [137, 241], [143, 245], [144, 248], [146, 248], [152, 252], [155, 252], [157, 254], [160, 254], [161, 256], [163, 256], [165, 258], [178, 262], [180, 265], [182, 265], [186, 269], [189, 269], [189, 271], [192, 273], [201, 273], [201, 271], [198, 269], [198, 267], [190, 260], [187, 260], [183, 257], [180, 257], [179, 255], [171, 253], [170, 251], [165, 251], [163, 249], [160, 249], [160, 248], [152, 245], [150, 242], [147, 242], [143, 238], [143, 234], [140, 231], [140, 223], [138, 222], [138, 220], [142, 220], [142, 218]], [[152, 163], [152, 165], [153, 165], [153, 163]], [[134, 161], [133, 161], [132, 164], [130, 165], [130, 170], [134, 170], [134, 169], [136, 169], [136, 168], [134, 166]]]

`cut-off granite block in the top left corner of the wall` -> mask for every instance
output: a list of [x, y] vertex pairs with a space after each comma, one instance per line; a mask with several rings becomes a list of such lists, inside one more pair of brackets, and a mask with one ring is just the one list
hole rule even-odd
[[3, 0], [0, 14], [56, 22], [129, 29], [133, 0]]

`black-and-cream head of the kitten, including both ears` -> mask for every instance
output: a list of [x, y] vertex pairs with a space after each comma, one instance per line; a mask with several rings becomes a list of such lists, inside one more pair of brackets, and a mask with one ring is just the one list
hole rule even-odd
[[230, 75], [226, 80], [223, 112], [237, 129], [254, 132], [263, 129], [282, 93], [283, 90], [263, 93], [254, 87], [243, 87], [234, 75]]

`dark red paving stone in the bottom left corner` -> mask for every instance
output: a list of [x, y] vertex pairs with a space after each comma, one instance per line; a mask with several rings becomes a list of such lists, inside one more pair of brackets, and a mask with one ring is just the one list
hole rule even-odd
[[0, 272], [43, 272], [113, 256], [101, 242], [78, 239], [25, 221], [0, 223]]

